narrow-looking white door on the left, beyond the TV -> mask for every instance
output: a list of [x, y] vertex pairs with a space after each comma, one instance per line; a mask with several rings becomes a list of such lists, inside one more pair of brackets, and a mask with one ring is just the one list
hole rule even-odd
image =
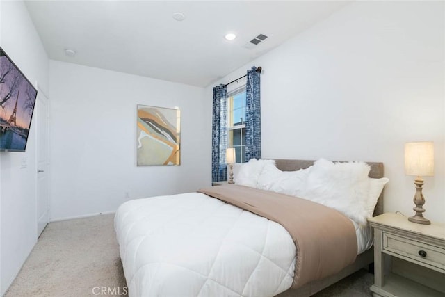
[[48, 98], [38, 90], [37, 108], [37, 236], [49, 222]]

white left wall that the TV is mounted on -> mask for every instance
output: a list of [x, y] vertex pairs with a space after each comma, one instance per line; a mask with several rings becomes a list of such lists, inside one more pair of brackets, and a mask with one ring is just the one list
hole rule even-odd
[[[1, 1], [0, 42], [26, 77], [48, 90], [48, 58], [22, 1]], [[0, 294], [37, 241], [35, 119], [26, 152], [0, 152]], [[21, 168], [26, 158], [26, 168]]]

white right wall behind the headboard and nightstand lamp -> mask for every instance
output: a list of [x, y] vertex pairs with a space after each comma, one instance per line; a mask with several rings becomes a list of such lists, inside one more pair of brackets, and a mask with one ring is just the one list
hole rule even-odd
[[404, 143], [435, 142], [426, 214], [445, 221], [445, 4], [360, 1], [213, 83], [261, 74], [264, 158], [382, 161], [385, 211], [412, 216]]

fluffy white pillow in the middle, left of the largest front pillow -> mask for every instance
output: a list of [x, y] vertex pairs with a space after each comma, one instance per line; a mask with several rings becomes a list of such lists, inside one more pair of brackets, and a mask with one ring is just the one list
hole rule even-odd
[[310, 167], [297, 171], [282, 171], [275, 164], [264, 166], [258, 179], [258, 188], [286, 195], [298, 196], [305, 187]]

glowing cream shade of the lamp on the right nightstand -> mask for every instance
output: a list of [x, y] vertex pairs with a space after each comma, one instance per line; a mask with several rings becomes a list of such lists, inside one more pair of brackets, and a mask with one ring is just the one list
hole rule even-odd
[[405, 143], [405, 174], [419, 177], [434, 175], [434, 143]]

